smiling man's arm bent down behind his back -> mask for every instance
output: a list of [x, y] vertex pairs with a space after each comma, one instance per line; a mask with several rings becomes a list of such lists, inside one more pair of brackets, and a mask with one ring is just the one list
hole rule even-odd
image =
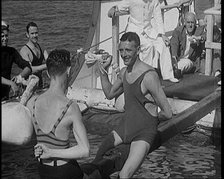
[[144, 85], [151, 93], [158, 107], [161, 109], [158, 118], [160, 120], [170, 119], [172, 117], [172, 110], [162, 89], [158, 75], [154, 72], [147, 73], [144, 78]]

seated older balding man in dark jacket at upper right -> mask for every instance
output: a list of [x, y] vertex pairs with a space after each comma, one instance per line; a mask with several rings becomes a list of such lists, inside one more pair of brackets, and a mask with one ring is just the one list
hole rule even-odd
[[170, 52], [181, 74], [200, 71], [200, 57], [204, 51], [204, 27], [196, 26], [196, 16], [187, 12], [184, 25], [177, 27], [170, 39]]

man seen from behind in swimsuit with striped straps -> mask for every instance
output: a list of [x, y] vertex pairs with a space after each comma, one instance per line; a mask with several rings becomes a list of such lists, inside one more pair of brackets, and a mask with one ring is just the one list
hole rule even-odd
[[[34, 147], [41, 178], [83, 178], [77, 159], [89, 156], [89, 142], [77, 103], [66, 97], [70, 53], [53, 50], [46, 61], [50, 87], [27, 103], [37, 136]], [[69, 145], [71, 130], [77, 144]]]

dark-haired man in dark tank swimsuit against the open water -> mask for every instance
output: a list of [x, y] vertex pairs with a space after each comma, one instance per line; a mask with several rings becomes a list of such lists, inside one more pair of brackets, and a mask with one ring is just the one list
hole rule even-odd
[[47, 51], [44, 50], [44, 53], [38, 44], [38, 27], [34, 22], [30, 22], [26, 26], [26, 36], [28, 42], [20, 50], [21, 56], [28, 62], [32, 67], [33, 74], [37, 75], [40, 79], [39, 87], [43, 87], [42, 71], [45, 70], [46, 64], [45, 59], [47, 59]]

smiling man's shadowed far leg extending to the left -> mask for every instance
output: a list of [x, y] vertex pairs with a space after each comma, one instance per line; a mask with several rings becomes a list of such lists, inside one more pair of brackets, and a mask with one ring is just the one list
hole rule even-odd
[[112, 149], [113, 147], [121, 144], [123, 141], [122, 139], [120, 138], [120, 136], [117, 134], [117, 132], [115, 131], [112, 131], [110, 134], [108, 134], [105, 139], [103, 140], [103, 142], [101, 143], [98, 151], [97, 151], [97, 154], [96, 154], [96, 157], [95, 159], [93, 160], [92, 163], [97, 163], [99, 162], [100, 160], [103, 159], [103, 155], [110, 149]]

